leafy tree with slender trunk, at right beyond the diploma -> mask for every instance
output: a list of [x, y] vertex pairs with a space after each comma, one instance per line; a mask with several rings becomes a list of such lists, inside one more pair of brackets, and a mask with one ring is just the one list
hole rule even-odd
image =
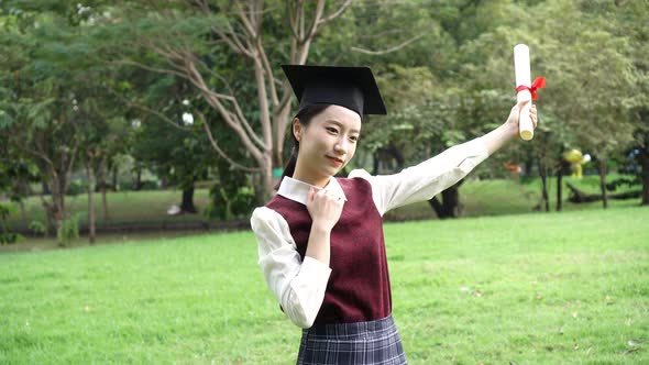
[[[636, 80], [627, 56], [629, 44], [608, 29], [608, 19], [588, 2], [557, 1], [543, 15], [550, 19], [548, 32], [558, 32], [556, 26], [568, 20], [575, 24], [569, 32], [557, 33], [562, 42], [554, 42], [549, 49], [551, 66], [562, 75], [556, 80], [552, 109], [575, 131], [575, 142], [597, 157], [606, 208], [606, 159], [632, 141], [634, 123], [628, 113]], [[566, 47], [574, 52], [563, 52]]]

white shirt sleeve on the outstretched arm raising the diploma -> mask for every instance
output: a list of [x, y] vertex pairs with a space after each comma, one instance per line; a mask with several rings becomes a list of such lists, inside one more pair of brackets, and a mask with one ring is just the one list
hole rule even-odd
[[363, 169], [350, 173], [372, 185], [372, 198], [381, 215], [391, 209], [416, 201], [429, 200], [460, 181], [488, 157], [484, 141], [479, 137], [455, 145], [419, 165], [394, 175], [372, 176]]

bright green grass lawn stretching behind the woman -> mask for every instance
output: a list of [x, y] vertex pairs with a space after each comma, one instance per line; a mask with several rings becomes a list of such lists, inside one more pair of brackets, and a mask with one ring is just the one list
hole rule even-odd
[[[387, 223], [411, 364], [649, 363], [649, 209]], [[0, 254], [0, 364], [290, 364], [250, 232]]]

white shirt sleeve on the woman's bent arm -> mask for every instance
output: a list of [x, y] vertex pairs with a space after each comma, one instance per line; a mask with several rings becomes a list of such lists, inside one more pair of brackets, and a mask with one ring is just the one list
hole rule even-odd
[[288, 223], [276, 211], [257, 208], [250, 222], [268, 288], [295, 324], [310, 328], [322, 306], [331, 268], [308, 256], [302, 262]]

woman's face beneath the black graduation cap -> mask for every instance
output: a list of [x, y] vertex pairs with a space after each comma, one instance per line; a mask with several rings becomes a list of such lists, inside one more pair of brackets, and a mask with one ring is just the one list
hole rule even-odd
[[294, 178], [323, 187], [356, 152], [361, 115], [340, 106], [330, 106], [311, 118], [305, 126], [293, 121], [293, 133], [299, 141]]

